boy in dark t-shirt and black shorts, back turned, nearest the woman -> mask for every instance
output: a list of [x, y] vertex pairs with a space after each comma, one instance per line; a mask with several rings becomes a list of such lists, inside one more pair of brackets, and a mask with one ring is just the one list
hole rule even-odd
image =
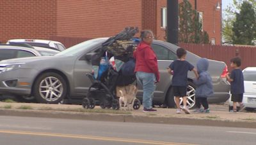
[[178, 59], [173, 61], [168, 68], [168, 72], [173, 75], [172, 87], [173, 94], [175, 96], [175, 103], [177, 107], [177, 114], [181, 113], [180, 110], [180, 97], [183, 99], [183, 107], [181, 109], [186, 113], [190, 114], [187, 108], [187, 86], [188, 86], [188, 71], [193, 71], [198, 78], [198, 73], [194, 66], [192, 66], [186, 59], [186, 50], [184, 48], [177, 49]]

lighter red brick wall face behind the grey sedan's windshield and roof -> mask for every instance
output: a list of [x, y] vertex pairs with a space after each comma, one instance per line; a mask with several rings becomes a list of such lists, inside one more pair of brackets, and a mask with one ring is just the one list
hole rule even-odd
[[108, 37], [127, 26], [141, 29], [141, 0], [58, 0], [57, 36]]

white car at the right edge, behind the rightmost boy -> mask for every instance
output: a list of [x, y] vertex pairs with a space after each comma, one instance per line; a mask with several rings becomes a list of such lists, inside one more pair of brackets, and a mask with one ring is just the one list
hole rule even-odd
[[[243, 104], [247, 111], [256, 109], [256, 67], [247, 67], [243, 70], [244, 75], [244, 96]], [[228, 100], [229, 110], [233, 107], [231, 97]]]

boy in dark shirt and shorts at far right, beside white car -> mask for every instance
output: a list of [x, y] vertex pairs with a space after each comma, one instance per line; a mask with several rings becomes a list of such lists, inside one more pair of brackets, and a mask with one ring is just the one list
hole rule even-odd
[[230, 112], [237, 112], [237, 102], [240, 104], [240, 110], [243, 111], [244, 104], [243, 102], [243, 93], [244, 93], [244, 76], [243, 72], [240, 69], [241, 59], [239, 57], [235, 57], [230, 60], [230, 66], [234, 69], [230, 76], [227, 74], [227, 79], [230, 82], [230, 92], [231, 92], [231, 100], [233, 101], [233, 110]]

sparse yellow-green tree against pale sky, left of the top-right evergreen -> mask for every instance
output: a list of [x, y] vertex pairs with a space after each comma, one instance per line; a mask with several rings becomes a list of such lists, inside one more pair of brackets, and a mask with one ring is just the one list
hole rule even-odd
[[234, 44], [232, 41], [233, 36], [233, 24], [236, 20], [236, 13], [241, 11], [241, 6], [244, 1], [252, 4], [253, 9], [256, 11], [256, 1], [255, 0], [233, 0], [233, 4], [227, 6], [225, 8], [225, 15], [223, 15], [223, 24], [222, 24], [222, 36], [223, 36], [223, 43], [231, 43]]

